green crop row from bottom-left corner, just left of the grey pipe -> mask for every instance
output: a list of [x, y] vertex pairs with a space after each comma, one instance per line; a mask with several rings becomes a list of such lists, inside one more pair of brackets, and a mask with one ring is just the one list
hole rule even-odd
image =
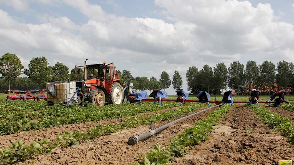
[[[124, 122], [118, 123], [110, 123], [107, 125], [103, 125], [99, 123], [95, 127], [89, 128], [86, 133], [81, 131], [73, 131], [73, 132], [65, 132], [63, 134], [56, 136], [56, 141], [54, 144], [50, 144], [51, 141], [46, 139], [42, 139], [46, 143], [37, 144], [37, 148], [35, 148], [36, 143], [39, 143], [38, 139], [36, 139], [29, 146], [24, 146], [21, 141], [16, 141], [12, 143], [11, 147], [6, 149], [0, 149], [0, 162], [5, 164], [12, 164], [18, 161], [25, 161], [26, 158], [32, 158], [34, 155], [39, 155], [43, 153], [50, 153], [52, 149], [56, 147], [70, 147], [73, 145], [78, 145], [80, 142], [86, 140], [94, 140], [103, 135], [109, 135], [112, 133], [116, 133], [118, 130], [123, 130], [127, 128], [135, 128], [139, 125], [146, 125], [149, 123], [149, 120], [152, 119], [154, 122], [161, 122], [168, 119], [173, 119], [177, 116], [184, 115], [185, 113], [193, 112], [196, 109], [204, 107], [205, 104], [197, 104], [188, 107], [181, 107], [176, 110], [170, 110], [163, 113], [152, 114], [146, 117], [139, 116], [137, 118], [129, 117], [124, 120]], [[41, 143], [41, 142], [40, 142]], [[21, 145], [20, 145], [21, 144]], [[44, 148], [44, 149], [43, 149]], [[39, 150], [44, 150], [43, 152], [39, 152]], [[35, 152], [34, 152], [35, 151]], [[21, 156], [20, 153], [23, 155]], [[25, 155], [25, 156], [24, 156]]]

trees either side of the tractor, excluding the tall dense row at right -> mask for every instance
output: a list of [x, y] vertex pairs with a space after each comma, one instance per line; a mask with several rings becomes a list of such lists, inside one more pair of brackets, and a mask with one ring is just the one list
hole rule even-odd
[[[69, 68], [64, 64], [57, 62], [54, 66], [49, 66], [49, 63], [45, 57], [32, 58], [30, 60], [28, 68], [23, 69], [20, 59], [15, 54], [6, 53], [0, 58], [0, 73], [2, 77], [0, 79], [0, 90], [29, 90], [29, 89], [44, 89], [46, 88], [46, 82], [49, 81], [67, 81], [67, 79], [76, 81], [82, 80], [84, 76], [84, 70], [77, 68], [75, 74], [74, 69], [69, 73]], [[25, 74], [27, 77], [19, 77], [21, 74]], [[130, 71], [123, 70], [122, 72], [117, 70], [117, 73], [121, 75], [121, 83], [125, 80], [133, 78]], [[182, 87], [182, 77], [178, 71], [175, 71], [173, 81], [170, 80], [167, 72], [161, 73], [159, 81], [154, 77], [136, 77], [133, 80], [134, 88], [139, 90], [152, 90], [152, 89], [166, 89], [170, 85], [173, 88]]]

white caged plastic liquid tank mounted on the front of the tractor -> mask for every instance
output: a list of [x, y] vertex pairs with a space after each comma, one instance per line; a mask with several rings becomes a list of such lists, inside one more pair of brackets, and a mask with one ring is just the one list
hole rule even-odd
[[[77, 90], [76, 81], [70, 81], [70, 82], [47, 82], [47, 89], [48, 87], [54, 83], [54, 88], [56, 92], [56, 97], [52, 97], [49, 92], [47, 92], [48, 97], [48, 104], [53, 104], [53, 101], [61, 100], [63, 103], [67, 103], [70, 98], [75, 94], [75, 91]], [[75, 95], [73, 100], [77, 100], [78, 96]], [[72, 100], [72, 101], [73, 101]]]

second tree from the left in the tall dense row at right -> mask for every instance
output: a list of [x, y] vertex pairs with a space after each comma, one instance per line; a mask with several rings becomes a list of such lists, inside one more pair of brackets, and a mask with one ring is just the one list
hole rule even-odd
[[203, 66], [203, 69], [199, 71], [199, 81], [203, 87], [206, 87], [209, 93], [209, 88], [213, 85], [213, 71], [207, 64]]

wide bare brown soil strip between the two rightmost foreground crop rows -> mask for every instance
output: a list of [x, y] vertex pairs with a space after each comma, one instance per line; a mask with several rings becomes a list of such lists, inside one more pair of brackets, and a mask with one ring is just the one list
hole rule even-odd
[[278, 164], [294, 158], [287, 139], [260, 122], [249, 107], [232, 107], [208, 137], [172, 164]]

